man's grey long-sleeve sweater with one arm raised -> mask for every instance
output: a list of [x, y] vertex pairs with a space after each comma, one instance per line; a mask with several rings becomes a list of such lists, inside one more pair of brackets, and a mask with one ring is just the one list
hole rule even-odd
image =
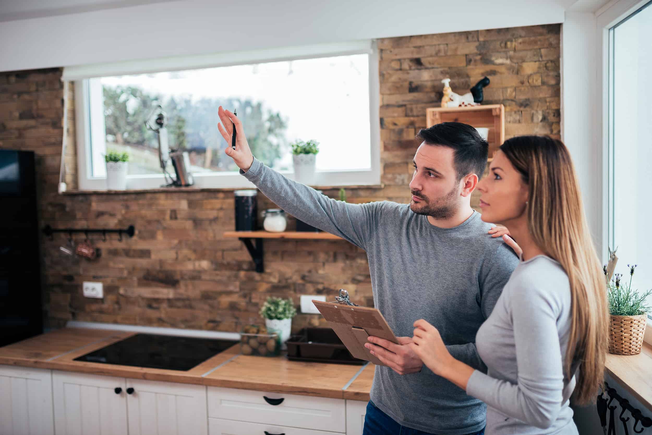
[[[336, 201], [256, 159], [244, 176], [292, 216], [366, 251], [374, 305], [397, 337], [411, 337], [415, 320], [424, 318], [455, 358], [486, 370], [475, 334], [518, 258], [500, 238], [487, 234], [490, 225], [480, 214], [444, 229], [408, 204]], [[371, 399], [401, 425], [428, 433], [461, 435], [484, 427], [484, 404], [425, 366], [406, 375], [377, 366]]]

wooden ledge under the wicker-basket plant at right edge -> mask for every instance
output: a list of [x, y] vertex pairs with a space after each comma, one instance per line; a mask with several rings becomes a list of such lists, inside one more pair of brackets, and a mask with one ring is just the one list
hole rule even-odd
[[647, 409], [652, 410], [652, 346], [644, 343], [638, 355], [608, 354], [606, 371]]

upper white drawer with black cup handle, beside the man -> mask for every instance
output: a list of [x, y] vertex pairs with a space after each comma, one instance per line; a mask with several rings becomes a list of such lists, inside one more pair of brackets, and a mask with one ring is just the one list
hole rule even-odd
[[208, 387], [208, 416], [281, 427], [346, 432], [344, 399]]

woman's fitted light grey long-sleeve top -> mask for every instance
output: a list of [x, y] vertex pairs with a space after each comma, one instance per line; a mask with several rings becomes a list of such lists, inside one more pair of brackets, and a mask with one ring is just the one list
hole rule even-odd
[[571, 288], [545, 255], [522, 261], [476, 337], [487, 374], [474, 371], [466, 392], [487, 404], [485, 434], [576, 435], [563, 363], [571, 328]]

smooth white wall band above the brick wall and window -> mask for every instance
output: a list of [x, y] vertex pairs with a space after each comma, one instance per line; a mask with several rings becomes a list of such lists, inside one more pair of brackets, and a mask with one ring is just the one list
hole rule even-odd
[[563, 19], [563, 5], [553, 0], [490, 4], [480, 0], [170, 1], [1, 22], [0, 71], [518, 27]]

